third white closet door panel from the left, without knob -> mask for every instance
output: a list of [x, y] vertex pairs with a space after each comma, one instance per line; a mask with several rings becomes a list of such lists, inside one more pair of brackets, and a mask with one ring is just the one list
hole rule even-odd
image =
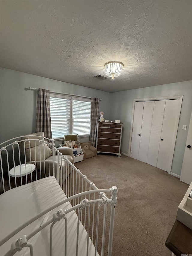
[[157, 166], [159, 145], [161, 141], [161, 130], [164, 118], [166, 101], [155, 101], [153, 109], [153, 118], [151, 126], [151, 134], [149, 140], [149, 150], [147, 156], [147, 164]]

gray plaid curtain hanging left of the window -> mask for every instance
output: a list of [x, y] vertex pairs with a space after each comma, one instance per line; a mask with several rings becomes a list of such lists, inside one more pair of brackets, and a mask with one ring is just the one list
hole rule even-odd
[[44, 132], [44, 137], [52, 139], [49, 90], [39, 88], [37, 98], [36, 131]]

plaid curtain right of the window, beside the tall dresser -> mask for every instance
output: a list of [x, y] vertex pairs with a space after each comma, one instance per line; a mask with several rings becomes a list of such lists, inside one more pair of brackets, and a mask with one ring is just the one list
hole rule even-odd
[[97, 122], [99, 121], [99, 98], [91, 98], [91, 143], [95, 147]]

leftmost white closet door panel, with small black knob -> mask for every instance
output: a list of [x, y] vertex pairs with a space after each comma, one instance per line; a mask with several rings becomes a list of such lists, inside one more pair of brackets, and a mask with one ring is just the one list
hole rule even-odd
[[138, 159], [144, 101], [135, 102], [130, 157]]

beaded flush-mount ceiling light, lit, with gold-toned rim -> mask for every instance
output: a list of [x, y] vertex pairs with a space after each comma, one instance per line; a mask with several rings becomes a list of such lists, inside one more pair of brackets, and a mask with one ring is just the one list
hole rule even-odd
[[105, 73], [108, 77], [111, 77], [112, 80], [115, 77], [119, 77], [123, 68], [123, 63], [119, 61], [110, 61], [105, 63]]

